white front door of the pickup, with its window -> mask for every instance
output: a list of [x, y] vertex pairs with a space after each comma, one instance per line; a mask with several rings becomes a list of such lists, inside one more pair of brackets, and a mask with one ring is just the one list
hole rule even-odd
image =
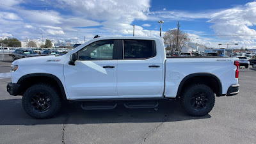
[[65, 86], [70, 99], [116, 96], [115, 40], [100, 40], [77, 52], [76, 65], [65, 62]]

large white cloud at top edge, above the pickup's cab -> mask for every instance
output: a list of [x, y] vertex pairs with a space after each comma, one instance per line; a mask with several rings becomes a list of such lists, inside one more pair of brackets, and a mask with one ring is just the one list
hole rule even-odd
[[[131, 24], [134, 19], [146, 20], [150, 8], [150, 0], [58, 0], [59, 6], [70, 8], [77, 15], [92, 20], [107, 20]], [[84, 14], [86, 13], [86, 15]]]

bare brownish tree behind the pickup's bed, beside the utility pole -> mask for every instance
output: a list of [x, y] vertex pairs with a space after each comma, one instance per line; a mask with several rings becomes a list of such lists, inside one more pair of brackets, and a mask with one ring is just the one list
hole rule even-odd
[[[178, 36], [179, 35], [179, 36]], [[164, 33], [164, 44], [171, 47], [171, 54], [175, 51], [176, 55], [182, 50], [186, 42], [189, 41], [188, 33], [177, 29], [170, 29]]]

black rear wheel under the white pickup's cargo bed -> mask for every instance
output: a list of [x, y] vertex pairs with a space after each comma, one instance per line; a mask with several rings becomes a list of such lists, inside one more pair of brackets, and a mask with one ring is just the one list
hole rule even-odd
[[215, 102], [214, 92], [205, 84], [193, 84], [181, 96], [181, 106], [191, 116], [207, 115]]

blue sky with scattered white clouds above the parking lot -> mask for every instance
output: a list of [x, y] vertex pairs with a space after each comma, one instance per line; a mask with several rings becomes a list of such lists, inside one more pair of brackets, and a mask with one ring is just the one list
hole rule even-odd
[[159, 37], [158, 20], [163, 35], [179, 21], [191, 42], [256, 48], [252, 0], [0, 0], [2, 38], [83, 43], [95, 35], [132, 36], [132, 25], [135, 36]]

